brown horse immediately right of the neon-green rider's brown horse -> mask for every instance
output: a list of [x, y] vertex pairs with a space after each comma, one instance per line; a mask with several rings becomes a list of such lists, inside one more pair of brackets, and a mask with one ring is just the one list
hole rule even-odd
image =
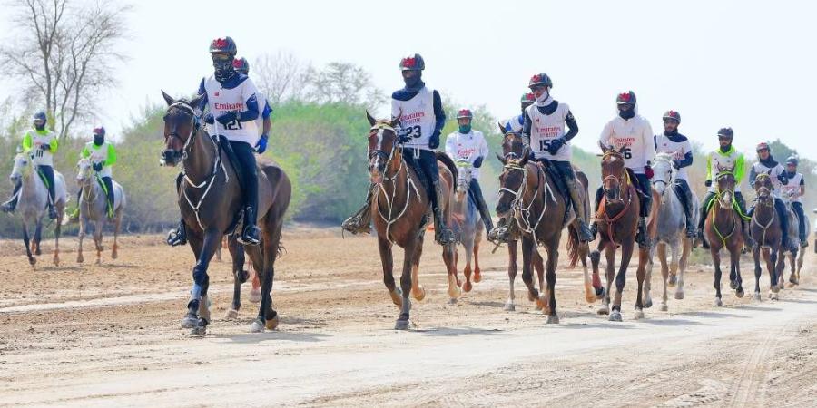
[[754, 179], [753, 189], [757, 196], [757, 204], [754, 206], [752, 214], [752, 224], [749, 233], [755, 242], [752, 248], [754, 258], [754, 300], [760, 300], [760, 276], [762, 273], [760, 255], [763, 252], [763, 261], [766, 263], [766, 270], [769, 271], [770, 293], [769, 297], [776, 299], [780, 287], [778, 281], [783, 276], [783, 228], [780, 225], [781, 219], [777, 217], [774, 209], [774, 197], [772, 195], [772, 178], [768, 173], [758, 174]]

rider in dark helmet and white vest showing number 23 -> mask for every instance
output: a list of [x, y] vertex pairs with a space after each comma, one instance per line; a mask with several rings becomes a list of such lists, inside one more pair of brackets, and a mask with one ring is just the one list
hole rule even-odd
[[[439, 136], [446, 124], [446, 113], [443, 110], [439, 92], [432, 90], [422, 81], [426, 63], [420, 54], [415, 53], [400, 60], [400, 71], [406, 86], [391, 94], [391, 116], [400, 118], [396, 131], [399, 142], [403, 145], [403, 157], [414, 163], [415, 169], [421, 172], [428, 181], [428, 196], [434, 211], [435, 239], [441, 245], [455, 242], [454, 232], [446, 225], [438, 197], [442, 196], [439, 186], [439, 169], [434, 150], [439, 147]], [[372, 189], [366, 203], [357, 213], [343, 221], [341, 227], [353, 234], [369, 231]]]

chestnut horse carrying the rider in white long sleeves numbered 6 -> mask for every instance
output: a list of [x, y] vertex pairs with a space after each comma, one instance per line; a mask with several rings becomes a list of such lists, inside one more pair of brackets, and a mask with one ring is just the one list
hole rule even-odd
[[[596, 249], [590, 254], [596, 296], [604, 297], [604, 304], [598, 308], [597, 313], [599, 315], [609, 313], [611, 322], [620, 322], [622, 320], [621, 296], [624, 293], [627, 267], [630, 265], [630, 258], [633, 256], [635, 249], [638, 214], [641, 210], [641, 201], [638, 199], [638, 190], [635, 188], [634, 177], [625, 168], [625, 149], [626, 146], [623, 146], [617, 151], [613, 149], [605, 150], [602, 154], [601, 173], [604, 196], [596, 212], [599, 241], [596, 244]], [[653, 211], [655, 211], [655, 208]], [[616, 248], [621, 248], [621, 263], [618, 267], [618, 273], [615, 273]], [[601, 287], [600, 279], [598, 279], [598, 264], [603, 250], [607, 260], [606, 287]], [[639, 248], [638, 268], [635, 274], [638, 280], [638, 293], [635, 297], [636, 320], [644, 318], [645, 307], [652, 306], [649, 299], [647, 299], [648, 302], [644, 302], [643, 298], [648, 257], [649, 248]], [[615, 299], [611, 309], [610, 287], [613, 284], [614, 275]]]

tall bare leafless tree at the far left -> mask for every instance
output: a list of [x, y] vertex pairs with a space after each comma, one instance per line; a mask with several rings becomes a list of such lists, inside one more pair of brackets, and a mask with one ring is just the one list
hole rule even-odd
[[[116, 51], [130, 5], [24, 0], [9, 5], [16, 37], [0, 47], [0, 62], [24, 87], [26, 102], [44, 103], [61, 139], [75, 121], [91, 119], [100, 92], [116, 84]], [[29, 102], [30, 103], [30, 102]]]

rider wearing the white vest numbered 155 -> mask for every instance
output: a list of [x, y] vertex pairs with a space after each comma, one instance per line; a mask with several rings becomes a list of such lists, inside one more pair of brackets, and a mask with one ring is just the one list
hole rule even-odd
[[[587, 228], [585, 202], [579, 198], [576, 187], [576, 173], [570, 164], [573, 150], [568, 141], [576, 137], [578, 124], [570, 107], [550, 96], [553, 82], [546, 73], [537, 73], [530, 78], [527, 87], [533, 92], [536, 104], [529, 105], [524, 114], [522, 140], [536, 161], [549, 164], [556, 176], [565, 182], [567, 193], [576, 209], [579, 220], [579, 239], [592, 241], [593, 234]], [[568, 131], [565, 131], [567, 127]]]

